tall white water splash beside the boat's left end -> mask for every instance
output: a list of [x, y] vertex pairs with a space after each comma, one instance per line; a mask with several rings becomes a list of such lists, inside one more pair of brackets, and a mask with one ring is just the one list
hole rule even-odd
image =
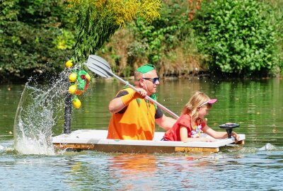
[[63, 71], [50, 84], [34, 79], [25, 84], [14, 122], [15, 149], [21, 154], [54, 155], [52, 127], [64, 116], [64, 96], [69, 82]]

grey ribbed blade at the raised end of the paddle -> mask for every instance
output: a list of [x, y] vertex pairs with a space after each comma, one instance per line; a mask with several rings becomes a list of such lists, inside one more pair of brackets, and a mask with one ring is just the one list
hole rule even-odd
[[110, 65], [102, 57], [98, 57], [93, 54], [89, 55], [86, 66], [88, 66], [88, 69], [104, 78], [109, 78], [113, 76], [113, 72], [110, 68]]

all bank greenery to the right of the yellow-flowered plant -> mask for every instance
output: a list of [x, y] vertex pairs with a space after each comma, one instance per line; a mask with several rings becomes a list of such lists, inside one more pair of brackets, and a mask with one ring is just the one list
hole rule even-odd
[[[120, 35], [114, 36], [103, 49], [105, 57], [111, 54], [115, 59], [112, 66], [118, 64], [118, 70], [127, 70], [121, 74], [151, 62], [161, 75], [200, 70], [238, 77], [279, 75], [283, 4], [255, 0], [188, 2], [164, 1], [158, 21], [139, 19], [128, 25], [127, 31], [134, 37], [119, 47], [116, 42]], [[117, 51], [120, 48], [127, 51]]]

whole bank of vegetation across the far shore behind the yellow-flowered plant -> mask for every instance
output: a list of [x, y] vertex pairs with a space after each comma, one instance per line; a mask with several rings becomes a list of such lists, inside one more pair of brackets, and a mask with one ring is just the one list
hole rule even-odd
[[[0, 5], [0, 83], [57, 76], [81, 46], [78, 12], [68, 1], [5, 2]], [[125, 78], [146, 63], [154, 64], [162, 78], [283, 76], [282, 1], [158, 2], [159, 17], [124, 23], [91, 54]]]

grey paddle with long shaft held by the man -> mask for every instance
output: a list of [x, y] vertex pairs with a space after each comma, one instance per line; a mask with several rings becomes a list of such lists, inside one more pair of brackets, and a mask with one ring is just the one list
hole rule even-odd
[[[129, 84], [128, 81], [125, 81], [125, 80], [121, 79], [119, 76], [113, 74], [113, 72], [112, 72], [112, 70], [110, 68], [110, 65], [102, 57], [98, 57], [98, 56], [93, 55], [93, 54], [89, 55], [88, 56], [88, 62], [86, 63], [86, 66], [88, 66], [88, 69], [90, 69], [94, 73], [98, 74], [99, 76], [102, 76], [104, 78], [114, 77], [115, 79], [117, 79], [117, 80], [121, 81], [122, 83], [124, 83], [126, 86], [132, 88], [134, 91], [138, 91], [137, 88], [132, 86], [131, 84]], [[176, 115], [171, 110], [168, 110], [167, 108], [165, 108], [163, 105], [158, 103], [156, 100], [152, 99], [149, 96], [146, 96], [145, 98], [147, 100], [150, 100], [152, 103], [155, 103], [159, 108], [161, 108], [162, 110], [168, 112], [170, 115], [172, 115], [173, 117], [178, 119], [178, 117], [179, 117], [178, 115]]]

